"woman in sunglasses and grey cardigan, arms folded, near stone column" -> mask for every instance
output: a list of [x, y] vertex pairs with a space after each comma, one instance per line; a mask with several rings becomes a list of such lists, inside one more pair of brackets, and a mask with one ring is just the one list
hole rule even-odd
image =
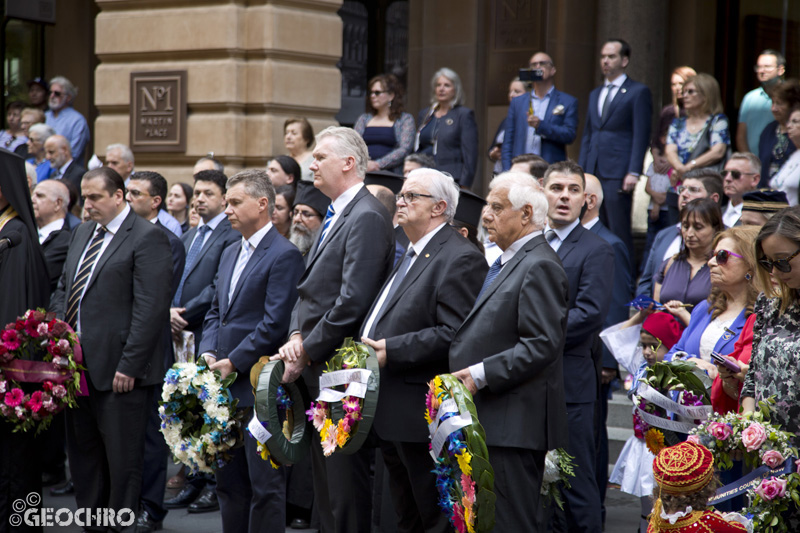
[[403, 86], [393, 74], [369, 80], [366, 113], [353, 129], [369, 150], [367, 172], [403, 173], [403, 160], [414, 147], [414, 117], [403, 112]]

